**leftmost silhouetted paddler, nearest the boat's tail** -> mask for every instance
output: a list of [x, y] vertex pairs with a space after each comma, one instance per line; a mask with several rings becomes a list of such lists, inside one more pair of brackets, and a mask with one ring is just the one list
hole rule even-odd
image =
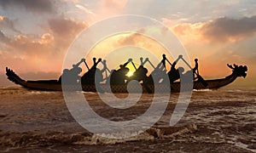
[[79, 67], [79, 65], [84, 61], [85, 59], [81, 59], [79, 63], [73, 65], [73, 68], [70, 70], [64, 69], [58, 82], [61, 82], [61, 80], [64, 79], [65, 84], [78, 84], [81, 81], [81, 77], [79, 76], [79, 74], [82, 72], [82, 69]]

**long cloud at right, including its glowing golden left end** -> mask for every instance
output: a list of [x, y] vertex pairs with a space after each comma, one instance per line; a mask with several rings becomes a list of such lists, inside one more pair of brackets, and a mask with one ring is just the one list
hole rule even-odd
[[182, 23], [172, 30], [183, 42], [238, 42], [256, 34], [256, 16], [239, 20], [227, 17], [195, 24]]

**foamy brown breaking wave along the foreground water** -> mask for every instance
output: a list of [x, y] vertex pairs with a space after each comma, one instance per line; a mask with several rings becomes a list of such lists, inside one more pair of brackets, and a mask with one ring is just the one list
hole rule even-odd
[[185, 133], [194, 133], [197, 130], [195, 124], [183, 127], [151, 127], [146, 132], [127, 139], [108, 139], [93, 133], [64, 133], [51, 131], [41, 133], [33, 132], [1, 132], [0, 144], [3, 148], [26, 148], [30, 146], [51, 146], [68, 144], [119, 144], [131, 141], [175, 139]]

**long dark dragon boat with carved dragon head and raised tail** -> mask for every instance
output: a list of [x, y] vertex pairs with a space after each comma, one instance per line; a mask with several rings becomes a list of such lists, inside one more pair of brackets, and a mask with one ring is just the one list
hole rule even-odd
[[[218, 89], [222, 88], [231, 82], [234, 82], [237, 77], [246, 77], [247, 76], [247, 66], [238, 66], [234, 65], [235, 67], [232, 67], [231, 65], [228, 65], [230, 69], [232, 69], [232, 73], [230, 76], [219, 78], [219, 79], [212, 79], [212, 80], [205, 80], [207, 82], [207, 86], [205, 83], [202, 83], [200, 80], [195, 80], [193, 82], [193, 89], [200, 90], [200, 89]], [[24, 80], [20, 78], [15, 72], [8, 67], [6, 67], [6, 75], [11, 82], [15, 82], [15, 84], [18, 84], [24, 88], [29, 89], [36, 89], [36, 90], [49, 90], [49, 91], [61, 91], [63, 87], [61, 86], [61, 82], [58, 82], [58, 80], [37, 80], [37, 81], [31, 81], [31, 80]], [[179, 92], [181, 88], [181, 82], [172, 82], [169, 87], [166, 84], [157, 84], [157, 85], [143, 85], [141, 84], [142, 88], [138, 88], [137, 85], [130, 86], [129, 91], [132, 91], [134, 93], [141, 92], [143, 90], [144, 93], [154, 93], [154, 89], [157, 88], [157, 91], [160, 92]], [[188, 87], [191, 87], [191, 83], [187, 83]], [[84, 92], [102, 92], [102, 93], [127, 93], [127, 85], [111, 85], [111, 88], [109, 88], [109, 85], [106, 83], [100, 83], [97, 88], [95, 85], [65, 85], [65, 88], [72, 88], [73, 90], [83, 90]], [[186, 83], [183, 87], [186, 87]], [[190, 88], [191, 89], [191, 88]]]

